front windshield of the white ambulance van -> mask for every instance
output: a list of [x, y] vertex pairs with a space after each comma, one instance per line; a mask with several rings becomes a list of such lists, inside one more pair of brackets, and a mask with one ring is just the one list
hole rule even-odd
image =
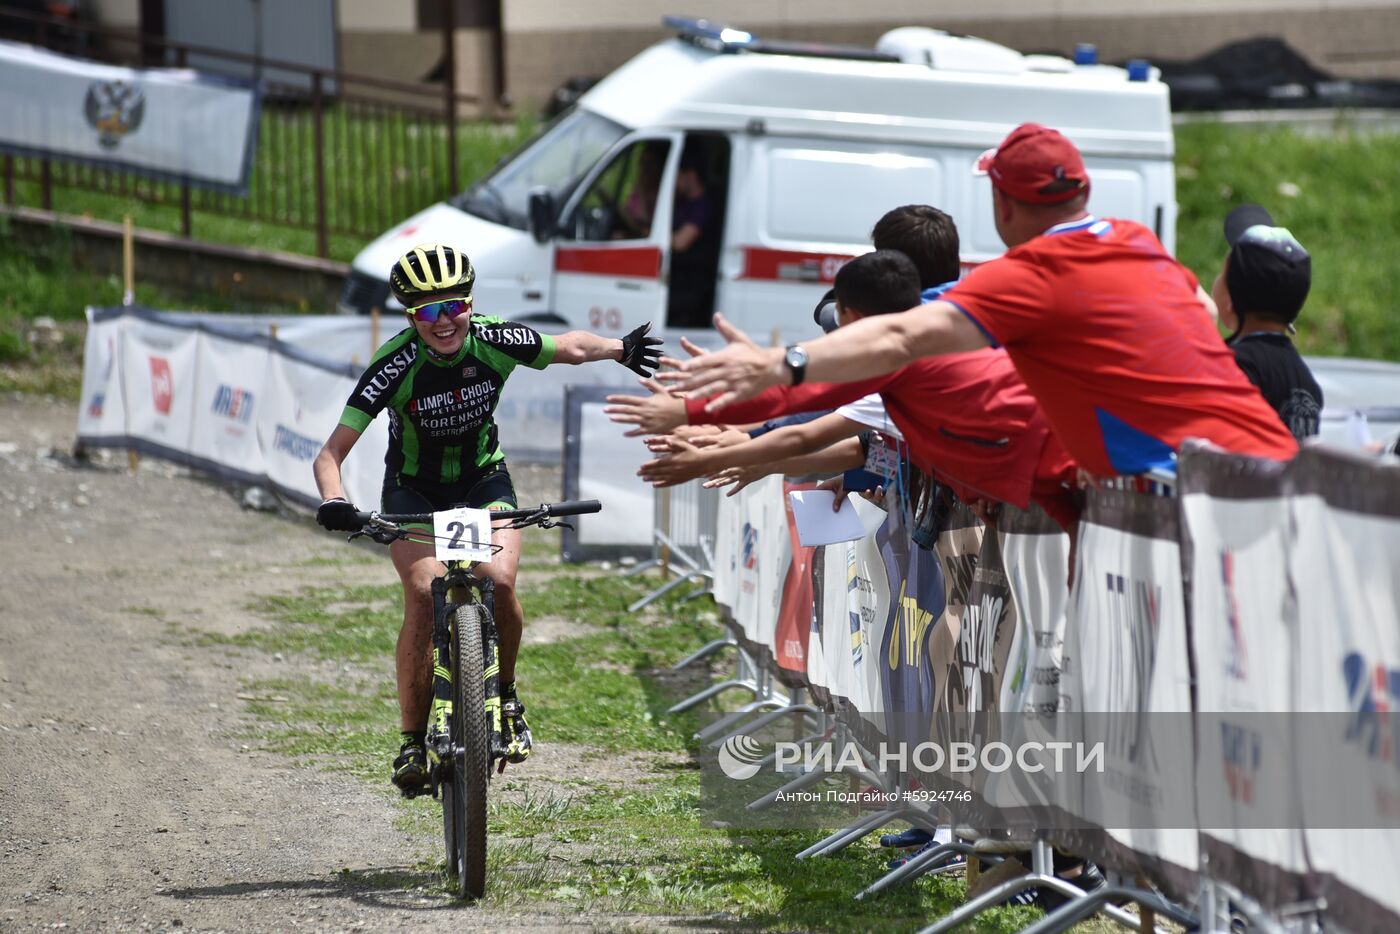
[[622, 123], [573, 108], [490, 175], [452, 199], [452, 206], [497, 224], [525, 230], [529, 192], [547, 188], [561, 204], [613, 143], [627, 133]]

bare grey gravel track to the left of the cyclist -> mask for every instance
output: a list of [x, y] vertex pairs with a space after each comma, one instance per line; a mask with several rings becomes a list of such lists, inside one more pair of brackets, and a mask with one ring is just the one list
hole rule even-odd
[[0, 930], [602, 920], [454, 905], [412, 871], [434, 854], [388, 788], [245, 745], [239, 682], [291, 662], [178, 636], [266, 625], [249, 599], [337, 583], [307, 560], [346, 546], [157, 461], [76, 468], [74, 423], [71, 403], [0, 399]]

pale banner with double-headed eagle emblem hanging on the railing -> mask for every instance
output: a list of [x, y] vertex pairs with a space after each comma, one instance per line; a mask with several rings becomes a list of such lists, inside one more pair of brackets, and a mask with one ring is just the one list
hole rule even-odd
[[258, 111], [252, 83], [0, 42], [0, 150], [242, 195]]

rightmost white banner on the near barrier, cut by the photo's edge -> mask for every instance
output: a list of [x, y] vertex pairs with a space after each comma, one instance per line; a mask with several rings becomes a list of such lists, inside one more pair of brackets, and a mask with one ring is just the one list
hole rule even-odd
[[[1400, 468], [1305, 448], [1294, 462], [1296, 539], [1288, 569], [1296, 598], [1299, 706], [1344, 711], [1299, 755], [1329, 765], [1299, 777], [1306, 851], [1323, 878], [1327, 916], [1354, 931], [1396, 930], [1400, 888]], [[1319, 714], [1322, 716], [1322, 714]], [[1373, 829], [1340, 830], [1338, 807], [1357, 802]]]

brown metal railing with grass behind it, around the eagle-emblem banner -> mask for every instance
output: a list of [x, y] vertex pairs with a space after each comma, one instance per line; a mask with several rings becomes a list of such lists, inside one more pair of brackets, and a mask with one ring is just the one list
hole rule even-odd
[[[451, 8], [452, 4], [444, 4]], [[316, 255], [328, 256], [332, 235], [374, 237], [459, 188], [458, 112], [482, 98], [458, 94], [452, 43], [444, 43], [438, 84], [392, 81], [337, 69], [171, 42], [132, 29], [63, 21], [0, 8], [0, 36], [22, 35], [56, 52], [111, 63], [185, 67], [253, 74], [263, 90], [246, 196], [179, 181], [155, 181], [119, 168], [42, 157], [4, 155], [6, 203], [36, 199], [53, 210], [55, 189], [134, 197], [179, 211], [179, 232], [193, 237], [193, 213], [314, 231]], [[34, 204], [31, 204], [34, 206]], [[113, 211], [119, 209], [113, 207]]]

